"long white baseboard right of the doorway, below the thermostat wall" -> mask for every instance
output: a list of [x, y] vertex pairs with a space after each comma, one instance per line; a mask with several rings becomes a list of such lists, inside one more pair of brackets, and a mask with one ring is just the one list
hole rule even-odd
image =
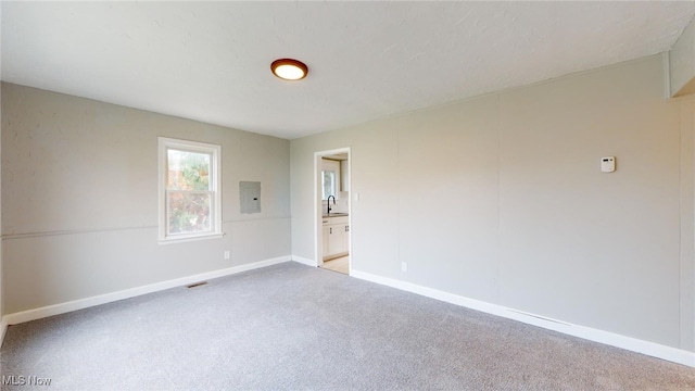
[[491, 304], [453, 293], [443, 292], [437, 289], [421, 287], [415, 283], [395, 280], [392, 278], [381, 277], [369, 273], [353, 269], [351, 276], [363, 280], [376, 282], [391, 288], [396, 288], [407, 292], [420, 294], [427, 298], [440, 300], [443, 302], [465, 306], [471, 310], [484, 312], [488, 314], [502, 316], [505, 318], [518, 320], [525, 324], [542, 327], [548, 330], [563, 332], [569, 336], [579, 337], [585, 340], [604, 343], [607, 345], [621, 348], [648, 356], [670, 361], [678, 364], [695, 367], [695, 353], [666, 346], [659, 343], [640, 340], [632, 337], [626, 337], [609, 331], [598, 330], [591, 327], [572, 325], [563, 320], [551, 319], [544, 316], [508, 308], [497, 304]]

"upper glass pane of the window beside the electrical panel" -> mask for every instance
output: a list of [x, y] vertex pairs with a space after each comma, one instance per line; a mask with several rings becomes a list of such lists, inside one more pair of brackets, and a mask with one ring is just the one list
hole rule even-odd
[[166, 154], [167, 190], [211, 190], [210, 154], [173, 149], [167, 150]]

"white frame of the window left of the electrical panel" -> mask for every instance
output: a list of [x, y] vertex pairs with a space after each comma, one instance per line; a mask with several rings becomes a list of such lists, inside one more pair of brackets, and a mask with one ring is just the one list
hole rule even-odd
[[[167, 174], [169, 149], [188, 152], [207, 153], [210, 162], [210, 185], [212, 192], [210, 231], [194, 234], [168, 234]], [[191, 240], [222, 238], [222, 147], [198, 141], [179, 140], [166, 137], [159, 138], [159, 210], [160, 210], [160, 244], [168, 244]]]

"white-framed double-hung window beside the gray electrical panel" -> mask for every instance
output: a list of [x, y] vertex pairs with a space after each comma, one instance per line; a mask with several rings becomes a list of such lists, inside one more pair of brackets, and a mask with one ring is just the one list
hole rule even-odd
[[160, 241], [222, 236], [220, 147], [160, 137]]

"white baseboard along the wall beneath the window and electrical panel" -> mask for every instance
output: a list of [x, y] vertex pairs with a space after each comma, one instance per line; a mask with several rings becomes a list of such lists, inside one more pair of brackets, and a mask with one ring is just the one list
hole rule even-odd
[[117, 292], [111, 292], [105, 294], [99, 294], [96, 297], [73, 300], [65, 303], [47, 305], [39, 308], [22, 311], [18, 313], [5, 315], [2, 318], [2, 324], [5, 326], [16, 325], [16, 324], [21, 324], [29, 320], [40, 319], [48, 316], [83, 310], [83, 308], [87, 308], [94, 305], [111, 303], [111, 302], [123, 300], [123, 299], [135, 298], [135, 297], [147, 294], [147, 293], [153, 293], [153, 292], [162, 291], [169, 288], [181, 287], [189, 283], [200, 282], [200, 281], [204, 281], [213, 278], [229, 276], [237, 273], [242, 273], [242, 272], [248, 272], [248, 270], [252, 270], [261, 267], [276, 265], [276, 264], [288, 262], [291, 260], [292, 257], [290, 255], [286, 255], [286, 256], [280, 256], [271, 260], [258, 261], [258, 262], [254, 262], [245, 265], [232, 266], [232, 267], [228, 267], [219, 270], [213, 270], [207, 273], [201, 273], [198, 275], [176, 278], [173, 280], [156, 282], [156, 283], [152, 283], [143, 287], [137, 287], [137, 288], [126, 289]]

